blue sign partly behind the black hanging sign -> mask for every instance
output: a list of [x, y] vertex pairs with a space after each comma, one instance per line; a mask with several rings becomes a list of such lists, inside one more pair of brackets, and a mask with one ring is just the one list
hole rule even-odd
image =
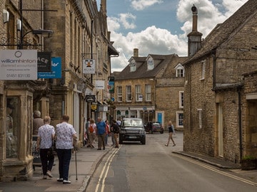
[[39, 72], [38, 78], [61, 79], [61, 58], [51, 58], [51, 72]]

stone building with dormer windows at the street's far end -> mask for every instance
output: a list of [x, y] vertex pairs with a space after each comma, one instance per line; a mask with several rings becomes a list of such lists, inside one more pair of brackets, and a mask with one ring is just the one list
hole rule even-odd
[[183, 129], [183, 77], [186, 58], [149, 54], [139, 57], [134, 49], [129, 65], [114, 75], [114, 118], [140, 117], [166, 127], [172, 120]]

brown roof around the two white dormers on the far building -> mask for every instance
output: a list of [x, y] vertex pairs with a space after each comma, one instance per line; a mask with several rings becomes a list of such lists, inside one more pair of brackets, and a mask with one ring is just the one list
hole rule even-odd
[[[154, 55], [149, 54], [154, 60], [153, 70], [147, 70], [146, 57], [132, 57], [136, 60], [136, 71], [131, 72], [130, 66], [126, 65], [126, 68], [122, 70], [119, 75], [116, 75], [115, 80], [126, 80], [126, 79], [138, 79], [138, 78], [154, 78], [158, 73], [166, 68], [173, 57], [178, 57], [176, 54], [171, 55]], [[131, 58], [131, 59], [132, 59]]]

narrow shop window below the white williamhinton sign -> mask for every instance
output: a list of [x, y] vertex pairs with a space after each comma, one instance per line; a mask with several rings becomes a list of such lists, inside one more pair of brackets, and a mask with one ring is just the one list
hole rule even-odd
[[16, 158], [19, 99], [18, 97], [7, 97], [6, 103], [6, 158]]

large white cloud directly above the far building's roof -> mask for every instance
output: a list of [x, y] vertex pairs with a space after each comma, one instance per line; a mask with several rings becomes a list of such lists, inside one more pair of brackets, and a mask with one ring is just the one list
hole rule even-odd
[[187, 51], [186, 41], [181, 41], [178, 36], [156, 26], [148, 27], [139, 33], [128, 33], [126, 36], [112, 32], [111, 41], [114, 41], [114, 47], [120, 53], [119, 58], [111, 59], [113, 71], [120, 71], [129, 64], [133, 48], [138, 48], [139, 56], [147, 56], [150, 53], [183, 55]]

